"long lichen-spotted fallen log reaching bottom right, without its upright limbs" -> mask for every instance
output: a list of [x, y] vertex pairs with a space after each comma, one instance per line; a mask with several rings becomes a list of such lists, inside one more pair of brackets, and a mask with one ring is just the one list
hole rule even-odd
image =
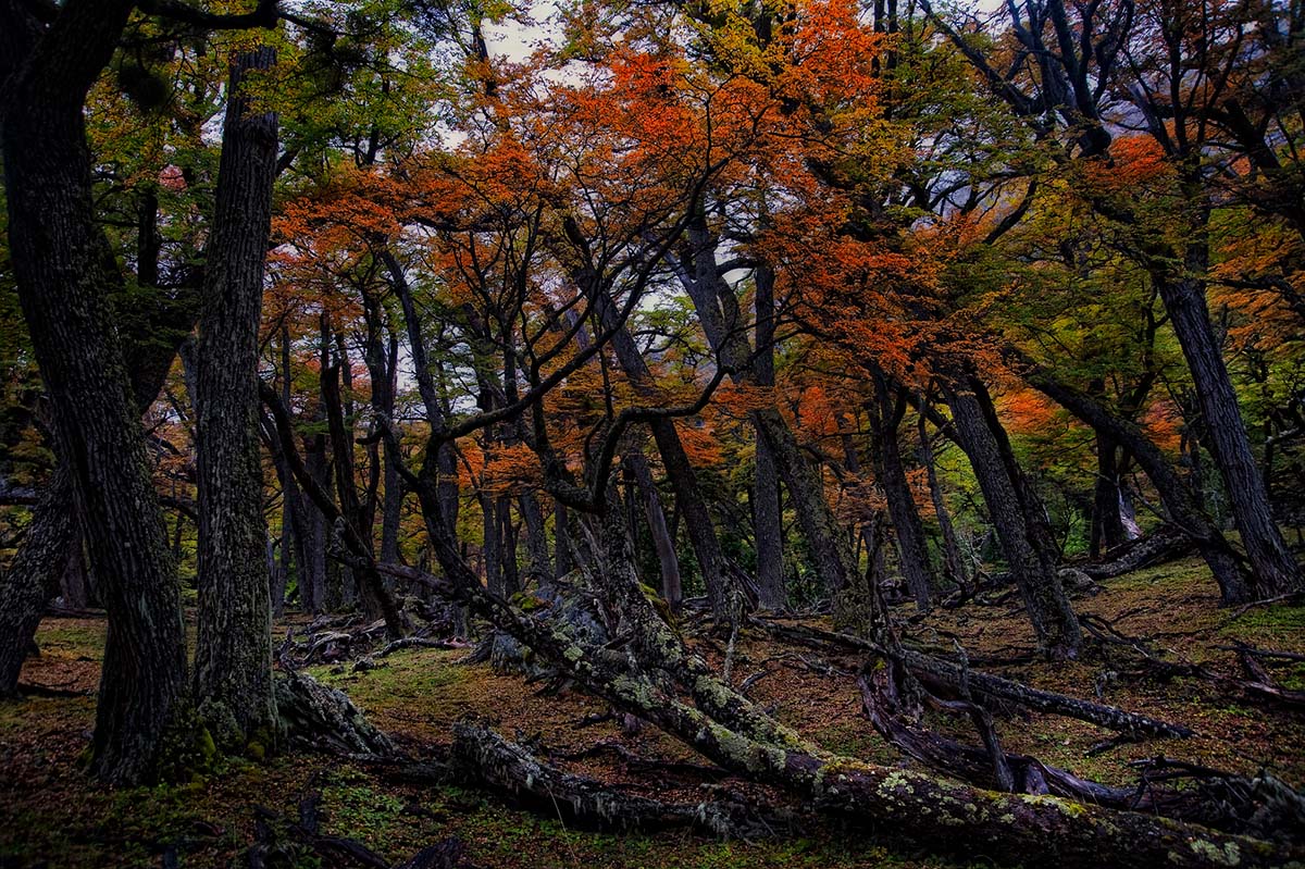
[[[1301, 848], [1169, 818], [1054, 796], [997, 793], [932, 774], [830, 754], [773, 719], [765, 727], [746, 727], [745, 722], [761, 712], [746, 698], [731, 693], [722, 693], [715, 703], [739, 711], [736, 724], [726, 727], [617, 663], [628, 658], [603, 655], [603, 650], [552, 633], [489, 595], [479, 582], [474, 587], [470, 581], [459, 582], [457, 590], [482, 615], [551, 658], [589, 690], [660, 727], [719, 766], [784, 788], [820, 810], [928, 843], [933, 851], [970, 853], [981, 848], [1026, 865], [1069, 869], [1095, 869], [1103, 862], [1124, 869], [1207, 869], [1229, 865], [1231, 860], [1267, 869], [1305, 861]], [[940, 836], [940, 831], [945, 835]]]

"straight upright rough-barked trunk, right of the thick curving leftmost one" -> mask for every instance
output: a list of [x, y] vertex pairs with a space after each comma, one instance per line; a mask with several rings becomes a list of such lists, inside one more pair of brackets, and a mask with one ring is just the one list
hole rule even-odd
[[211, 240], [205, 252], [198, 371], [198, 632], [193, 693], [219, 748], [273, 748], [271, 604], [258, 449], [258, 325], [277, 171], [277, 116], [240, 93], [271, 48], [231, 61]]

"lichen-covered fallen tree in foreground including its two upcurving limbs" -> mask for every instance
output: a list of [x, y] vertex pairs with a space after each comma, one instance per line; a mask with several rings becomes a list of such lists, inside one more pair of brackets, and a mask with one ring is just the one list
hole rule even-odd
[[[784, 788], [812, 806], [844, 816], [870, 831], [889, 830], [915, 838], [932, 851], [980, 851], [1024, 865], [1267, 869], [1305, 862], [1305, 848], [1052, 796], [997, 793], [932, 774], [831, 754], [731, 686], [699, 672], [699, 664], [685, 652], [675, 632], [655, 613], [647, 613], [651, 604], [638, 588], [628, 551], [622, 552], [628, 540], [620, 510], [604, 515], [604, 530], [611, 528], [621, 540], [620, 545], [608, 547], [600, 573], [611, 575], [603, 591], [609, 595], [604, 599], [620, 608], [622, 629], [628, 624], [629, 629], [639, 630], [629, 648], [617, 651], [579, 643], [491, 594], [462, 558], [444, 523], [437, 488], [411, 471], [405, 479], [422, 501], [448, 596], [466, 603], [547, 656], [591, 693], [752, 782]], [[632, 650], [637, 654], [629, 654]], [[692, 685], [689, 695], [696, 706], [656, 673], [671, 675], [680, 686]]]

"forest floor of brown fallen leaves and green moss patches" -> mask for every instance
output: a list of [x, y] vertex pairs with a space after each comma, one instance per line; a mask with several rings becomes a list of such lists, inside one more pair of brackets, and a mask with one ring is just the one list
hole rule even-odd
[[[1305, 652], [1305, 607], [1220, 608], [1214, 582], [1195, 560], [1108, 581], [1104, 591], [1077, 605], [1124, 634], [1151, 638], [1169, 650], [1171, 660], [1186, 659], [1228, 675], [1241, 675], [1235, 652], [1223, 648], [1236, 642]], [[279, 630], [283, 635], [284, 626]], [[1135, 780], [1129, 761], [1164, 754], [1242, 774], [1267, 769], [1289, 784], [1305, 784], [1305, 716], [1298, 711], [1250, 703], [1203, 680], [1129, 677], [1118, 646], [1088, 650], [1082, 660], [1062, 665], [1031, 660], [1028, 625], [1010, 602], [938, 611], [912, 620], [908, 632], [940, 651], [951, 651], [959, 642], [984, 669], [1197, 731], [1193, 739], [1125, 744], [1088, 755], [1112, 735], [1082, 722], [1028, 714], [998, 720], [1007, 750], [1111, 783]], [[831, 823], [804, 825], [754, 843], [690, 832], [576, 830], [556, 814], [513, 808], [475, 789], [399, 784], [384, 771], [324, 754], [282, 754], [262, 763], [236, 759], [218, 774], [183, 785], [107, 789], [81, 771], [94, 722], [104, 622], [47, 618], [38, 642], [42, 654], [22, 675], [26, 699], [0, 705], [0, 869], [244, 865], [254, 808], [294, 817], [309, 792], [321, 795], [322, 832], [358, 839], [393, 862], [457, 836], [475, 864], [485, 868], [964, 865], [921, 856], [889, 830]], [[699, 642], [709, 655], [719, 654], [720, 643]], [[414, 753], [448, 744], [453, 723], [475, 716], [509, 739], [530, 740], [538, 753], [555, 759], [595, 744], [619, 746], [556, 762], [633, 792], [698, 801], [713, 788], [746, 789], [723, 776], [668, 778], [632, 763], [630, 755], [696, 763], [701, 758], [651, 728], [626, 733], [612, 722], [579, 727], [586, 716], [607, 711], [606, 706], [576, 692], [543, 694], [539, 685], [527, 685], [519, 676], [496, 675], [485, 664], [459, 664], [465, 656], [466, 651], [415, 648], [377, 660], [378, 667], [365, 672], [354, 672], [348, 664], [309, 672], [348, 693]], [[861, 711], [855, 665], [853, 659], [817, 660], [808, 650], [746, 633], [733, 673], [736, 684], [752, 680], [753, 699], [774, 707], [812, 740], [835, 752], [898, 763], [898, 753]], [[1305, 689], [1305, 664], [1275, 665], [1272, 675], [1283, 688]], [[974, 741], [963, 723], [932, 719], [930, 724]], [[981, 853], [970, 855], [970, 861], [989, 864]]]

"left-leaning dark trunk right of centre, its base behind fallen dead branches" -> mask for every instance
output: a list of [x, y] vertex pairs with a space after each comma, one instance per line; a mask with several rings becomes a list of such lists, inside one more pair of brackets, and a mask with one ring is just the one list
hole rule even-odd
[[1054, 562], [1039, 551], [983, 406], [974, 391], [960, 389], [949, 390], [947, 404], [1037, 634], [1037, 645], [1054, 658], [1073, 656], [1082, 639], [1078, 618], [1061, 588]]

